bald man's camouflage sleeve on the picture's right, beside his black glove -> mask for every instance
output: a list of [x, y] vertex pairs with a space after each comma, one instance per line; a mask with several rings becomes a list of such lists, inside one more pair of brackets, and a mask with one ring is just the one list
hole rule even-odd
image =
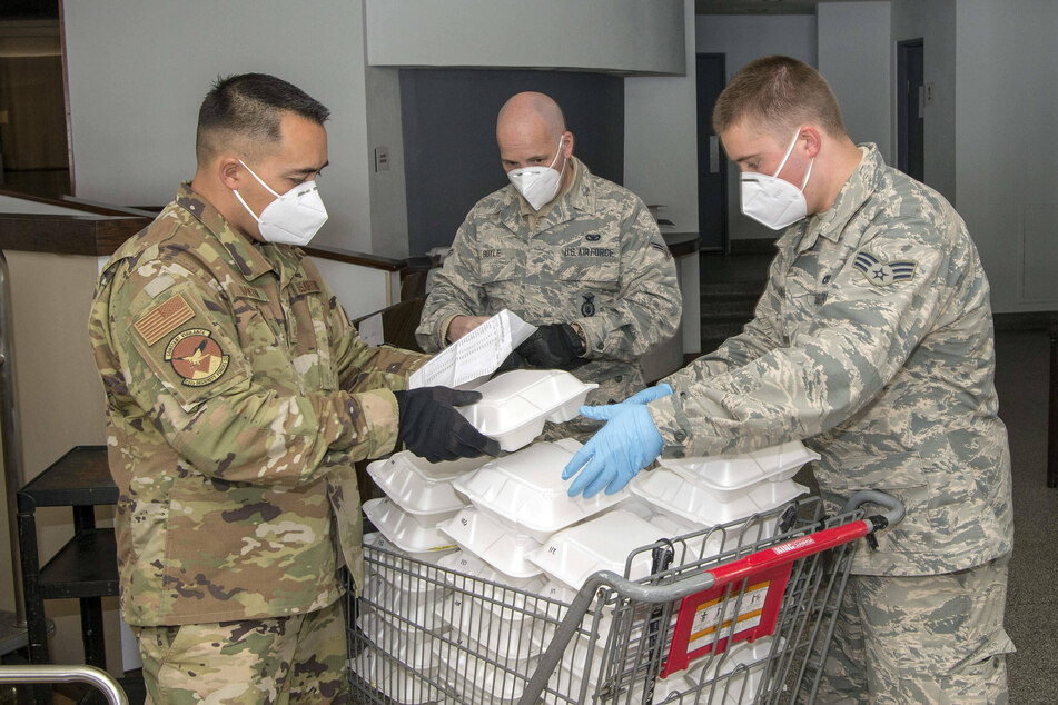
[[634, 200], [622, 224], [620, 295], [593, 316], [568, 321], [584, 331], [589, 359], [637, 359], [672, 337], [683, 312], [672, 254], [646, 206]]

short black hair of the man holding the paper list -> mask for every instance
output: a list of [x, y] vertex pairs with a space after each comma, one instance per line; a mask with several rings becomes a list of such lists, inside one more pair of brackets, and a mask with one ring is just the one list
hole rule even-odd
[[198, 110], [195, 155], [208, 161], [227, 140], [278, 142], [279, 119], [289, 111], [323, 125], [330, 111], [297, 86], [267, 73], [219, 77]]

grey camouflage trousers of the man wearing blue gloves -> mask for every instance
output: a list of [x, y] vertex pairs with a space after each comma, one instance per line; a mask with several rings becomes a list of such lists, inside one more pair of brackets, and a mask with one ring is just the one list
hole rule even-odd
[[1007, 703], [1009, 556], [945, 575], [856, 575], [839, 610], [820, 705]]

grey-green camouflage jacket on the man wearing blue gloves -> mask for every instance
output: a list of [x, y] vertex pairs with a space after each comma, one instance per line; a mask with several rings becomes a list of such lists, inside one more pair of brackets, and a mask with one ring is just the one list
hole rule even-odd
[[955, 209], [860, 149], [831, 209], [777, 241], [753, 320], [666, 379], [651, 414], [663, 455], [804, 439], [824, 497], [903, 500], [857, 573], [969, 568], [1013, 542], [988, 280]]

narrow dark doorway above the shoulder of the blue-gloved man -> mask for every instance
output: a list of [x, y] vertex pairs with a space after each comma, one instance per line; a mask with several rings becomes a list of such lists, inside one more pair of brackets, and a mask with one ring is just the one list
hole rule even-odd
[[897, 168], [926, 180], [927, 93], [921, 39], [897, 43]]

